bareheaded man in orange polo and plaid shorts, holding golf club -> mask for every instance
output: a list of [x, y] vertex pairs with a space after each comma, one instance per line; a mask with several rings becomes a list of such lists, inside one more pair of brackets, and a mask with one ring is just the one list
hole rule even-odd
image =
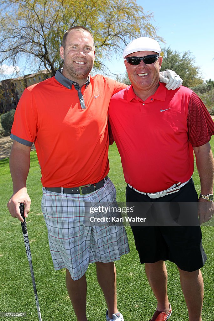
[[[8, 209], [20, 221], [19, 204], [25, 204], [25, 217], [30, 211], [26, 179], [34, 142], [50, 251], [55, 269], [66, 268], [66, 286], [77, 320], [87, 320], [85, 273], [94, 262], [107, 302], [107, 321], [123, 321], [117, 309], [114, 261], [129, 252], [125, 229], [88, 224], [85, 213], [88, 203], [110, 205], [116, 200], [115, 187], [107, 177], [107, 111], [111, 97], [126, 85], [89, 75], [95, 49], [93, 36], [84, 27], [65, 32], [60, 54], [63, 70], [26, 88], [17, 106], [11, 131], [13, 195]], [[171, 82], [169, 88], [174, 86]], [[179, 79], [175, 83], [179, 86]]]

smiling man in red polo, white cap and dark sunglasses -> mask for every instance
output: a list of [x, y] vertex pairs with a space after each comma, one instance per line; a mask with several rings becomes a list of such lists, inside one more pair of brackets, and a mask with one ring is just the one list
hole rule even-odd
[[[165, 215], [164, 202], [171, 206], [186, 202], [193, 209], [198, 204], [200, 223], [211, 219], [214, 161], [209, 140], [214, 134], [214, 123], [193, 91], [183, 86], [167, 91], [159, 82], [160, 52], [158, 42], [151, 38], [135, 39], [124, 49], [124, 63], [132, 85], [111, 99], [110, 143], [115, 140], [121, 156], [127, 183], [126, 201], [141, 202], [135, 204], [140, 213], [147, 212], [149, 220], [149, 226], [135, 224], [132, 230], [140, 261], [145, 263], [148, 281], [158, 301], [151, 321], [165, 321], [171, 315], [165, 260], [174, 262], [180, 272], [189, 321], [201, 321], [200, 268], [206, 254], [201, 245], [197, 206], [191, 214], [196, 218], [193, 225], [198, 226], [152, 226], [150, 222], [152, 215], [157, 215], [158, 220]], [[199, 199], [191, 178], [193, 151], [201, 180]], [[186, 219], [189, 215], [187, 211]]]

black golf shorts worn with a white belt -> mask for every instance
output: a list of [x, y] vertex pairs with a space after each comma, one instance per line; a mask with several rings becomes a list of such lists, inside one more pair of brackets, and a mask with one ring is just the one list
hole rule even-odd
[[[127, 185], [126, 202], [197, 202], [198, 195], [191, 179], [180, 191], [158, 199], [134, 191]], [[143, 203], [141, 203], [143, 204]], [[181, 270], [200, 269], [207, 256], [198, 226], [131, 226], [140, 262], [171, 261]]]

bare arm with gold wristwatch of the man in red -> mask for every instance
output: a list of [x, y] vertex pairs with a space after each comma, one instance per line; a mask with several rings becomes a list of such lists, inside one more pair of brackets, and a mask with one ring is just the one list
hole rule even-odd
[[[213, 194], [213, 178], [214, 178], [214, 160], [210, 143], [206, 143], [199, 147], [194, 147], [196, 165], [201, 181], [201, 194]], [[207, 201], [199, 197], [199, 217], [200, 225], [211, 219], [214, 213], [213, 202]]]

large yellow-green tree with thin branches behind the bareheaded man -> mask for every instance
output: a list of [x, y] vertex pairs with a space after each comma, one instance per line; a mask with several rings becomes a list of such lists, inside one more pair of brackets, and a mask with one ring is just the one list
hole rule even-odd
[[4, 0], [0, 2], [0, 64], [16, 66], [24, 59], [31, 71], [46, 68], [54, 75], [63, 65], [59, 47], [64, 32], [83, 25], [94, 35], [95, 68], [106, 70], [102, 61], [121, 54], [132, 39], [160, 39], [152, 18], [136, 0]]

